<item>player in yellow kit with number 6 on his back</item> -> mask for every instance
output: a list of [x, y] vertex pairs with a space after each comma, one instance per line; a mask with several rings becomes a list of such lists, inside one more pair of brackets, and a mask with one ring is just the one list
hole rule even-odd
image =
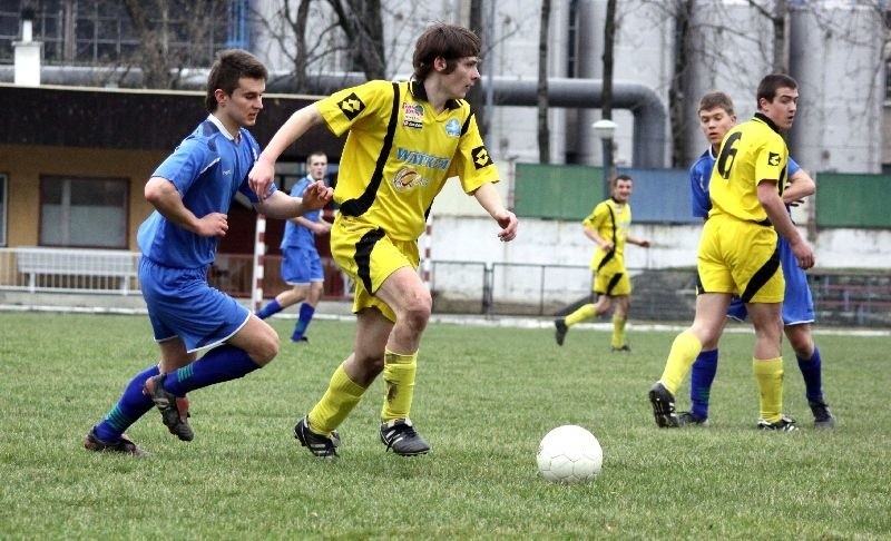
[[709, 180], [712, 210], [697, 254], [696, 315], [693, 325], [675, 338], [662, 378], [649, 390], [658, 426], [679, 426], [675, 393], [703, 344], [721, 335], [727, 307], [737, 295], [755, 327], [752, 367], [760, 392], [757, 427], [796, 430], [782, 411], [785, 283], [777, 233], [789, 240], [799, 266], [813, 266], [813, 249], [795, 229], [781, 198], [789, 159], [781, 132], [792, 127], [797, 99], [794, 79], [766, 76], [758, 85], [758, 112], [731, 129], [721, 144]]

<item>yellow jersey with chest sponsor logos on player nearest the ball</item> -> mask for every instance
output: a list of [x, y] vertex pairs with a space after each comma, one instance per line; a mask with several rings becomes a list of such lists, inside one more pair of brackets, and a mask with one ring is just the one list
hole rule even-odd
[[464, 100], [449, 100], [437, 112], [422, 83], [379, 80], [316, 106], [334, 135], [349, 131], [334, 188], [340, 212], [392, 238], [421, 236], [448, 178], [460, 177], [467, 194], [499, 179]]

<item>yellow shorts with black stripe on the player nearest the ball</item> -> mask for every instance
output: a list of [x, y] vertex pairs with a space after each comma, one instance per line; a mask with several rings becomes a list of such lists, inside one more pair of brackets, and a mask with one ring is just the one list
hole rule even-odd
[[331, 256], [355, 284], [353, 312], [374, 307], [395, 322], [395, 313], [374, 293], [396, 269], [418, 269], [418, 240], [390, 238], [373, 224], [339, 214], [331, 227]]

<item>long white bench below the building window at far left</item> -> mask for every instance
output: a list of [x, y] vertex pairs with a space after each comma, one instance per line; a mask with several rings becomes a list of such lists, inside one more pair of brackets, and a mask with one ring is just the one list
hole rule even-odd
[[[111, 278], [115, 291], [121, 295], [130, 292], [130, 281], [138, 277], [139, 254], [114, 249], [18, 247], [16, 262], [19, 273], [28, 276], [28, 291], [38, 287], [38, 276], [56, 276], [60, 281], [71, 277]], [[70, 284], [69, 284], [70, 285]], [[81, 284], [82, 286], [82, 284]], [[86, 287], [62, 286], [60, 289]]]

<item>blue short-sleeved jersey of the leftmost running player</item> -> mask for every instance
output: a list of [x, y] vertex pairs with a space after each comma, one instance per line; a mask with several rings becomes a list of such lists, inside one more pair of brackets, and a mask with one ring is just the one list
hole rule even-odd
[[[256, 195], [247, 174], [260, 155], [260, 145], [244, 128], [236, 141], [213, 115], [207, 118], [151, 174], [172, 181], [183, 204], [198, 218], [228, 214], [235, 194], [252, 203]], [[270, 194], [275, 191], [275, 185]], [[214, 262], [219, 237], [196, 235], [165, 218], [158, 210], [139, 226], [137, 242], [143, 255], [172, 268], [203, 268]]]

